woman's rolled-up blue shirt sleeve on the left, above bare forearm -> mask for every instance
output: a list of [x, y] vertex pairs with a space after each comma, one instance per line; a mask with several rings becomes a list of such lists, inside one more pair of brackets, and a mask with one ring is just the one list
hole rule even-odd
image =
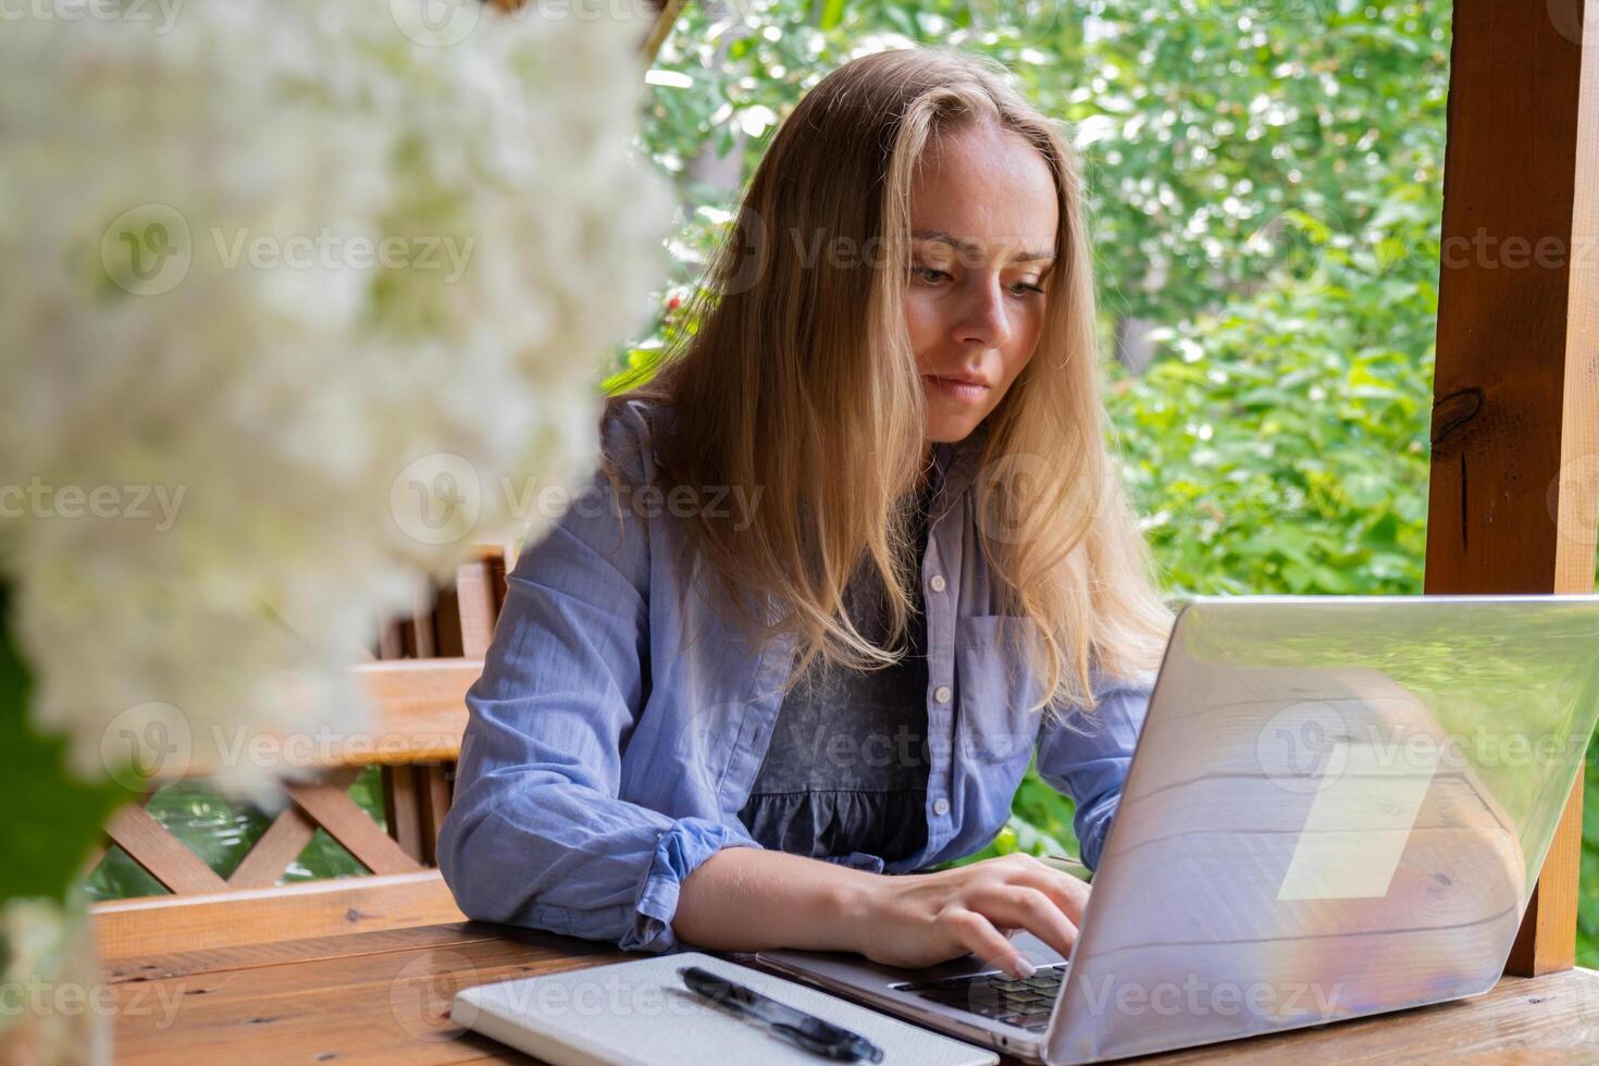
[[648, 695], [646, 523], [596, 471], [507, 585], [467, 694], [440, 873], [469, 917], [675, 949], [683, 879], [721, 847], [756, 844], [619, 799]]

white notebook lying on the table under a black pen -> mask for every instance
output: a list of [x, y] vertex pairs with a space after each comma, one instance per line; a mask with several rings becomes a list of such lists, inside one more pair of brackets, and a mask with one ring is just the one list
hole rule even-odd
[[883, 1066], [995, 1066], [993, 1052], [921, 1029], [814, 988], [697, 951], [478, 984], [456, 994], [456, 1024], [550, 1066], [819, 1066], [828, 1060], [713, 1007], [683, 986], [697, 965], [854, 1029], [886, 1053]]

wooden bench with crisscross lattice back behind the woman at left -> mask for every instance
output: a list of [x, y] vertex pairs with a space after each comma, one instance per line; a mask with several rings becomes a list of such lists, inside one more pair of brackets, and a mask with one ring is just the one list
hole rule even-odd
[[[467, 722], [465, 692], [483, 670], [512, 564], [507, 545], [483, 545], [435, 603], [384, 628], [373, 662], [355, 668], [382, 743], [336, 743], [317, 780], [286, 783], [289, 802], [227, 877], [146, 810], [166, 782], [112, 815], [86, 868], [117, 845], [169, 895], [91, 905], [101, 957], [464, 921], [437, 869], [438, 829]], [[381, 772], [387, 831], [347, 791], [369, 766]], [[371, 876], [280, 885], [318, 828]]]

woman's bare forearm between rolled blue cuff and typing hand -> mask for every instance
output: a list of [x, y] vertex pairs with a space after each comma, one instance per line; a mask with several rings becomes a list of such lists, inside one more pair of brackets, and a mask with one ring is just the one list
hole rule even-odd
[[672, 929], [712, 951], [852, 951], [881, 881], [819, 858], [724, 847], [684, 877]]

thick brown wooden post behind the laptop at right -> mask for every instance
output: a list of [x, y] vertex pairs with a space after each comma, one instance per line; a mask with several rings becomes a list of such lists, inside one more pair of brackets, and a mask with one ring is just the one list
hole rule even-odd
[[[1455, 3], [1433, 396], [1426, 593], [1591, 593], [1599, 0]], [[1580, 860], [1578, 778], [1506, 972], [1573, 965]]]

